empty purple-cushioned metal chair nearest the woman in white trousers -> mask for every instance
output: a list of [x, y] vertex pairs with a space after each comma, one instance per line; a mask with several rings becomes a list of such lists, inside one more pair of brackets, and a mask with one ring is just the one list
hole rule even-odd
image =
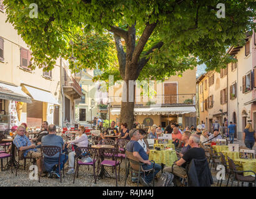
[[[80, 165], [87, 165], [88, 169], [89, 169], [89, 166], [93, 167], [94, 183], [97, 183], [97, 177], [96, 177], [95, 169], [96, 169], [96, 162], [98, 162], [97, 160], [98, 160], [98, 156], [99, 156], [98, 155], [98, 150], [97, 149], [92, 149], [91, 147], [77, 147], [75, 152], [76, 152], [76, 156], [75, 156], [76, 171], [75, 171], [75, 174], [74, 174], [73, 183], [75, 183], [76, 175], [77, 175], [77, 178], [78, 178], [78, 172], [79, 172], [79, 166]], [[84, 157], [84, 158], [91, 157], [92, 162], [82, 162], [81, 160], [79, 160], [82, 157]], [[75, 167], [75, 165], [74, 165], [74, 167]]]

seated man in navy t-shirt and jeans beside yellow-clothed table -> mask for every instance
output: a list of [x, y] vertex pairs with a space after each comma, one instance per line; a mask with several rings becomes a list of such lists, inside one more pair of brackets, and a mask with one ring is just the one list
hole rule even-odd
[[[129, 136], [130, 136], [130, 141], [126, 145], [126, 150], [128, 150], [129, 152], [133, 152], [134, 157], [137, 157], [137, 159], [140, 162], [144, 163], [144, 165], [142, 165], [144, 170], [152, 169], [153, 164], [149, 161], [149, 155], [147, 155], [143, 147], [140, 146], [139, 142], [137, 142], [140, 139], [139, 131], [136, 129], [133, 129], [132, 131], [129, 132]], [[160, 169], [161, 169], [161, 166], [159, 164], [155, 164], [155, 173], [152, 174], [152, 172], [148, 172], [145, 175], [145, 178], [144, 178], [144, 175], [142, 175], [140, 177], [140, 179], [142, 180], [141, 183], [143, 183], [144, 186], [149, 187], [150, 186], [149, 183], [153, 180], [155, 175], [157, 175]]]

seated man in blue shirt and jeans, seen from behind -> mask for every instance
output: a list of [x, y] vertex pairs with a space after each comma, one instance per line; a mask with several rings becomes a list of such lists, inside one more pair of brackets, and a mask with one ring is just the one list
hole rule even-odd
[[[65, 145], [61, 136], [56, 136], [56, 126], [54, 124], [49, 125], [48, 127], [49, 135], [42, 137], [42, 146], [57, 146], [61, 147], [64, 150]], [[66, 158], [65, 158], [66, 157]], [[66, 163], [68, 156], [65, 154], [61, 154], [60, 158], [60, 169], [62, 170], [64, 164]], [[51, 157], [44, 155], [44, 167], [46, 171], [49, 173], [49, 177], [60, 178], [59, 174], [59, 165], [55, 170], [54, 166], [59, 162], [59, 154], [55, 154]]]

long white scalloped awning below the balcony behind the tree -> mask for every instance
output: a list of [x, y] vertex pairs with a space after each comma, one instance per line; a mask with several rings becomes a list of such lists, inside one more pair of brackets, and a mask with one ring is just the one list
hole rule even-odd
[[[112, 108], [111, 114], [119, 115], [121, 108]], [[185, 113], [195, 113], [194, 106], [174, 106], [174, 107], [147, 107], [147, 108], [134, 108], [135, 115], [149, 115], [149, 114], [185, 114]]]

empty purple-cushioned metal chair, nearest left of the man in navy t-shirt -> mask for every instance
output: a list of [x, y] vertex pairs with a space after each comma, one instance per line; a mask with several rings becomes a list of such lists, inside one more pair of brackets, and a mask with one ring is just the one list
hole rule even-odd
[[115, 149], [108, 149], [108, 148], [101, 148], [99, 149], [99, 156], [101, 158], [104, 158], [104, 160], [101, 160], [101, 163], [98, 164], [98, 173], [99, 173], [99, 166], [101, 167], [112, 167], [115, 169], [115, 172], [116, 172], [116, 187], [117, 187], [117, 166], [119, 166], [119, 169], [118, 169], [118, 178], [119, 178], [119, 181], [120, 181], [120, 177], [119, 177], [119, 174], [120, 174], [120, 162], [117, 161], [117, 154], [118, 154], [118, 149], [115, 148]]

